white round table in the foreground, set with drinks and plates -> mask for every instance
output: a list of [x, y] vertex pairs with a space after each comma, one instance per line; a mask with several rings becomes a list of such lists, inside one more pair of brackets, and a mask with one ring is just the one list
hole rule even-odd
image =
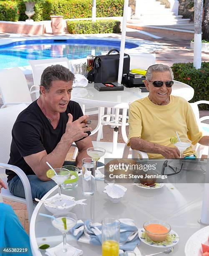
[[[91, 218], [93, 222], [100, 222], [103, 218], [131, 218], [138, 228], [143, 227], [146, 220], [160, 219], [167, 221], [171, 228], [179, 235], [179, 243], [174, 246], [172, 256], [184, 256], [184, 246], [187, 239], [203, 225], [197, 220], [201, 215], [203, 184], [164, 184], [159, 189], [143, 189], [133, 184], [125, 184], [127, 192], [121, 202], [112, 203], [106, 193], [103, 193], [104, 182], [97, 181], [97, 191], [91, 197], [82, 195], [81, 177], [78, 187], [73, 191], [62, 190], [65, 195], [74, 196], [76, 200], [86, 198], [87, 205], [77, 205], [72, 209], [78, 220]], [[57, 186], [44, 197], [55, 195]], [[33, 256], [44, 255], [38, 246], [47, 243], [50, 247], [62, 242], [61, 233], [53, 227], [50, 218], [42, 217], [38, 213], [50, 214], [39, 202], [33, 212], [30, 222], [30, 246]], [[83, 250], [83, 256], [101, 255], [101, 246], [80, 243], [71, 234], [67, 235], [67, 243]], [[141, 242], [138, 247], [143, 255], [162, 251]]]

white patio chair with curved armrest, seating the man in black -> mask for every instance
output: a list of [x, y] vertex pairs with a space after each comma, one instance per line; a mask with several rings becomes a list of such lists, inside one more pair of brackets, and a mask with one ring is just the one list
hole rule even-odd
[[33, 213], [33, 199], [31, 195], [30, 183], [25, 173], [17, 166], [7, 164], [10, 158], [10, 145], [12, 141], [12, 128], [17, 116], [27, 107], [26, 104], [15, 105], [10, 108], [0, 109], [0, 178], [7, 184], [5, 169], [12, 170], [20, 177], [25, 190], [25, 198], [12, 195], [9, 189], [1, 189], [1, 195], [4, 199], [20, 202], [27, 205], [28, 220]]

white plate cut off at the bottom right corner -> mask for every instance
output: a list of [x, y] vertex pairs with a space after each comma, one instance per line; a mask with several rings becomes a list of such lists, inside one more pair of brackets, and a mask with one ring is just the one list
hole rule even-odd
[[209, 226], [196, 231], [186, 242], [184, 252], [186, 256], [201, 256], [201, 243], [209, 245]]

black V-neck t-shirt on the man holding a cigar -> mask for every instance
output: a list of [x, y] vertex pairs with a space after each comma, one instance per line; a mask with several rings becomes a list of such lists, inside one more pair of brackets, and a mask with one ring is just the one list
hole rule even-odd
[[[65, 133], [68, 122], [68, 113], [73, 115], [73, 121], [83, 115], [80, 105], [75, 101], [68, 103], [64, 113], [60, 113], [60, 120], [56, 129], [50, 124], [47, 117], [40, 110], [37, 100], [23, 110], [15, 121], [12, 129], [12, 143], [10, 148], [10, 160], [8, 164], [20, 167], [26, 175], [35, 174], [25, 162], [23, 156], [29, 156], [45, 150], [50, 154], [61, 137]], [[88, 135], [91, 132], [87, 132]], [[17, 174], [6, 170], [8, 181]]]

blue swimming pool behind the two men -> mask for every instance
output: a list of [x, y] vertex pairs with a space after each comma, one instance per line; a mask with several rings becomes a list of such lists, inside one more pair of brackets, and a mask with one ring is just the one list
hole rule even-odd
[[[28, 60], [31, 59], [86, 58], [93, 49], [96, 55], [101, 55], [101, 51], [120, 50], [120, 45], [120, 41], [75, 38], [17, 41], [0, 45], [0, 69], [28, 66]], [[137, 44], [126, 43], [125, 49], [137, 46]]]

